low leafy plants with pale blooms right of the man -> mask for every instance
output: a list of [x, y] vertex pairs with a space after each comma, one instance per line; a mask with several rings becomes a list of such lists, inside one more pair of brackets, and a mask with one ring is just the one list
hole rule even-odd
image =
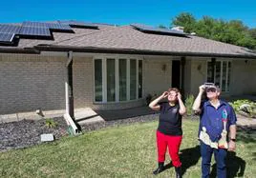
[[230, 105], [237, 113], [243, 114], [247, 117], [256, 117], [256, 103], [249, 100], [236, 100]]

